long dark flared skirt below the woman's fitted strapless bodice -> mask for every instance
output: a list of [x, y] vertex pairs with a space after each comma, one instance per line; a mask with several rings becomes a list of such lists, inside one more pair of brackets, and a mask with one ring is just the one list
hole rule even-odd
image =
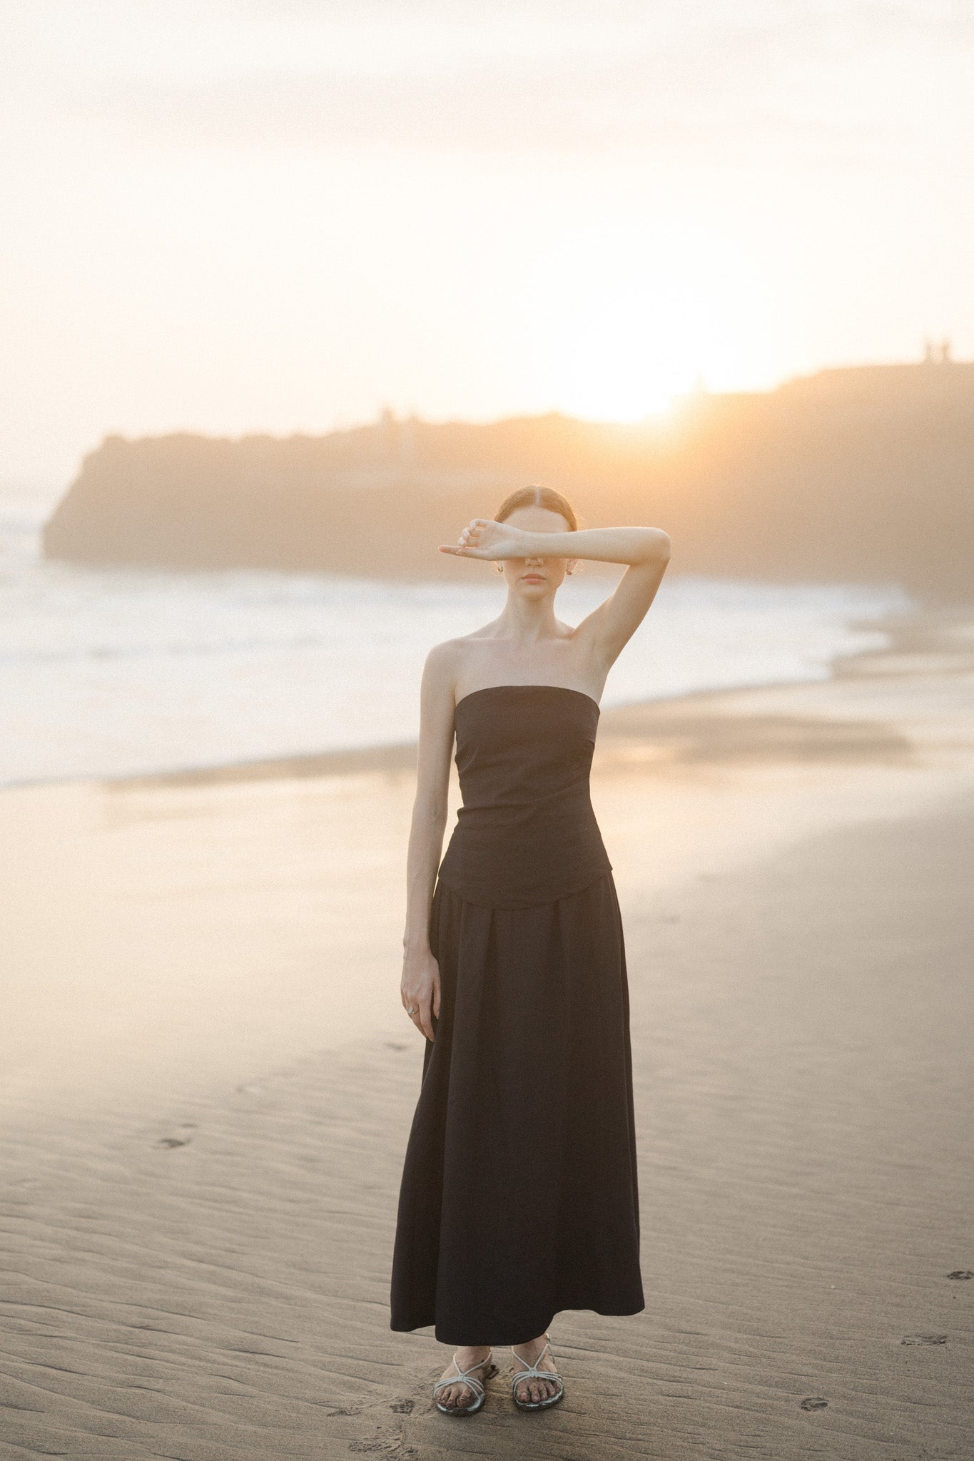
[[533, 907], [437, 882], [441, 1010], [399, 1197], [391, 1328], [523, 1344], [638, 1313], [629, 996], [612, 872]]

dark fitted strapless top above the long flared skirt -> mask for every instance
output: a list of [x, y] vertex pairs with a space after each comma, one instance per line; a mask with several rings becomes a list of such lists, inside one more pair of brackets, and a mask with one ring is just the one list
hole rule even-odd
[[488, 685], [457, 701], [463, 805], [438, 878], [469, 903], [532, 907], [612, 871], [588, 792], [599, 706], [564, 685]]

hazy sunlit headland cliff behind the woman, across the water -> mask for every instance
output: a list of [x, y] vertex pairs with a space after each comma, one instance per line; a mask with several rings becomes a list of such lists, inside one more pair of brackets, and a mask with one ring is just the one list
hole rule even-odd
[[586, 526], [651, 523], [673, 567], [901, 583], [974, 599], [974, 362], [824, 370], [698, 393], [666, 418], [397, 421], [323, 437], [107, 437], [44, 529], [98, 564], [470, 579], [437, 552], [514, 487], [567, 492]]

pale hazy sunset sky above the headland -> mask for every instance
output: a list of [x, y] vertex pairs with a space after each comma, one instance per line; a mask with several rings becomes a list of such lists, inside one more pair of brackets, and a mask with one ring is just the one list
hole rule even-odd
[[974, 355], [970, 0], [0, 0], [0, 484]]

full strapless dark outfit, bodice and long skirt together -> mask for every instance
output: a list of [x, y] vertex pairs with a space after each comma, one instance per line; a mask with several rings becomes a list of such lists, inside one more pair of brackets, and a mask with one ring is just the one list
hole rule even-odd
[[638, 1313], [629, 999], [590, 801], [599, 706], [562, 685], [457, 703], [463, 806], [440, 865], [391, 1328], [521, 1344], [562, 1309]]

